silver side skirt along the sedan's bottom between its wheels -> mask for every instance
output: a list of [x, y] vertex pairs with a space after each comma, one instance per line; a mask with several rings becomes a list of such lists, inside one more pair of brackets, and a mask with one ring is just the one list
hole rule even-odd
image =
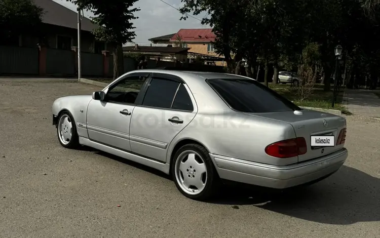
[[110, 147], [110, 146], [107, 146], [107, 145], [104, 145], [104, 144], [101, 144], [98, 142], [91, 141], [88, 138], [84, 138], [84, 137], [80, 136], [79, 137], [79, 143], [81, 145], [86, 145], [86, 146], [89, 146], [89, 147], [92, 147], [92, 148], [95, 148], [95, 149], [98, 149], [98, 150], [101, 150], [101, 151], [104, 151], [104, 152], [107, 152], [107, 153], [110, 153], [110, 154], [113, 154], [113, 155], [116, 155], [116, 156], [119, 156], [122, 158], [125, 158], [126, 160], [130, 160], [130, 161], [133, 161], [133, 162], [136, 162], [136, 163], [157, 169], [159, 171], [164, 172], [165, 174], [169, 174], [169, 172], [170, 172], [170, 165], [169, 164], [150, 160], [149, 158], [145, 158], [145, 157], [142, 157], [140, 155], [136, 155], [133, 153], [129, 153], [127, 151], [123, 151], [123, 150], [116, 149], [116, 148], [113, 148], [113, 147]]

